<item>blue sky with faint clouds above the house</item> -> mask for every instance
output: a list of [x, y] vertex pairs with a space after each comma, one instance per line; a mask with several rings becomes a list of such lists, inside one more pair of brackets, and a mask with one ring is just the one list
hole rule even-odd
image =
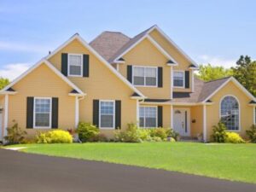
[[0, 0], [0, 76], [15, 78], [75, 32], [133, 37], [157, 24], [198, 63], [256, 58], [256, 1]]

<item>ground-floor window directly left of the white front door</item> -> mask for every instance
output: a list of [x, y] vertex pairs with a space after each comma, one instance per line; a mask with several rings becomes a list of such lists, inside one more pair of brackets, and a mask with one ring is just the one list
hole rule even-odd
[[156, 127], [156, 107], [140, 107], [140, 127]]

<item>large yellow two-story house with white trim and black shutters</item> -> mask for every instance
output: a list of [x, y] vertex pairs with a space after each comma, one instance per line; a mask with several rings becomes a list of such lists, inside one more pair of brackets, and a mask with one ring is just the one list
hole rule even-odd
[[232, 77], [196, 79], [196, 69], [158, 26], [134, 38], [102, 32], [90, 44], [75, 34], [0, 91], [0, 140], [14, 119], [30, 136], [85, 121], [108, 137], [137, 123], [205, 142], [222, 119], [246, 137], [255, 97]]

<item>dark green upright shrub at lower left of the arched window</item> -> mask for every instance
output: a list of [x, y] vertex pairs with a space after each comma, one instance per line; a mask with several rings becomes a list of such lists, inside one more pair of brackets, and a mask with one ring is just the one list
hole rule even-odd
[[218, 122], [218, 125], [213, 126], [212, 141], [217, 143], [224, 143], [225, 138], [227, 137], [226, 126], [221, 121]]

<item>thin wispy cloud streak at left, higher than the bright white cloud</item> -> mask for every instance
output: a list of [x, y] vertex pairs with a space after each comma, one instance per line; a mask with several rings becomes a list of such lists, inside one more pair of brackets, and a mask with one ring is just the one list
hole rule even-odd
[[11, 50], [11, 51], [22, 51], [22, 52], [32, 52], [32, 53], [48, 53], [48, 48], [42, 45], [35, 44], [17, 44], [12, 42], [0, 41], [0, 50]]

